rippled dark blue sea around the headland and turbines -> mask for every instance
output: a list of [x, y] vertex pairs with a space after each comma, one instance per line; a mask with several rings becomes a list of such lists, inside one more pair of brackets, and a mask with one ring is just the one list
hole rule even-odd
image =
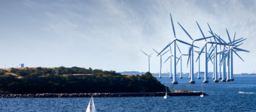
[[[166, 77], [159, 79], [166, 83]], [[203, 84], [207, 96], [189, 97], [95, 97], [97, 111], [256, 111], [256, 76], [235, 76], [235, 81]], [[202, 80], [189, 84], [188, 77], [178, 79], [170, 90], [202, 91]], [[183, 85], [183, 86], [182, 86]], [[239, 91], [250, 93], [238, 93]], [[86, 111], [90, 98], [12, 98], [0, 99], [0, 111]]]

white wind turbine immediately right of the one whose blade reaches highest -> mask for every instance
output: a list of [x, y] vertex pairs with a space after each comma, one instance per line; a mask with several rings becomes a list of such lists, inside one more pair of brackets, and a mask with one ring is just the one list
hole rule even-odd
[[[178, 22], [179, 24], [179, 22]], [[196, 24], [198, 25], [197, 21], [196, 21]], [[179, 24], [180, 25], [180, 24]], [[196, 39], [194, 40], [190, 35], [189, 33], [180, 25], [180, 27], [183, 29], [183, 31], [185, 31], [185, 33], [189, 36], [189, 38], [191, 39], [189, 42], [192, 43], [192, 45], [194, 45], [194, 42], [196, 41], [200, 41], [200, 40], [205, 40], [206, 41], [206, 38], [211, 38], [212, 36], [209, 36], [209, 37], [205, 37], [204, 35], [204, 38], [199, 38], [199, 39]], [[199, 25], [198, 25], [199, 27]], [[200, 28], [200, 27], [199, 27]], [[201, 31], [201, 28], [200, 28], [200, 31]], [[201, 31], [202, 32], [202, 31]], [[191, 80], [189, 81], [189, 83], [191, 84], [195, 84], [195, 81], [194, 81], [194, 47], [191, 46], [191, 49], [189, 50], [189, 58], [191, 56], [191, 63], [190, 63], [190, 72], [191, 72]]]

